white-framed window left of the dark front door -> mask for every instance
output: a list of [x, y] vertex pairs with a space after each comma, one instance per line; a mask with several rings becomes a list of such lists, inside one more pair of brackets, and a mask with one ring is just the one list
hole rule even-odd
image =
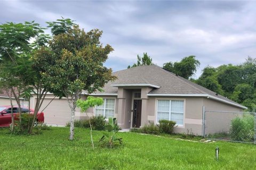
[[95, 107], [95, 116], [102, 115], [108, 119], [108, 117], [114, 117], [114, 112], [115, 99], [103, 99], [103, 104]]

